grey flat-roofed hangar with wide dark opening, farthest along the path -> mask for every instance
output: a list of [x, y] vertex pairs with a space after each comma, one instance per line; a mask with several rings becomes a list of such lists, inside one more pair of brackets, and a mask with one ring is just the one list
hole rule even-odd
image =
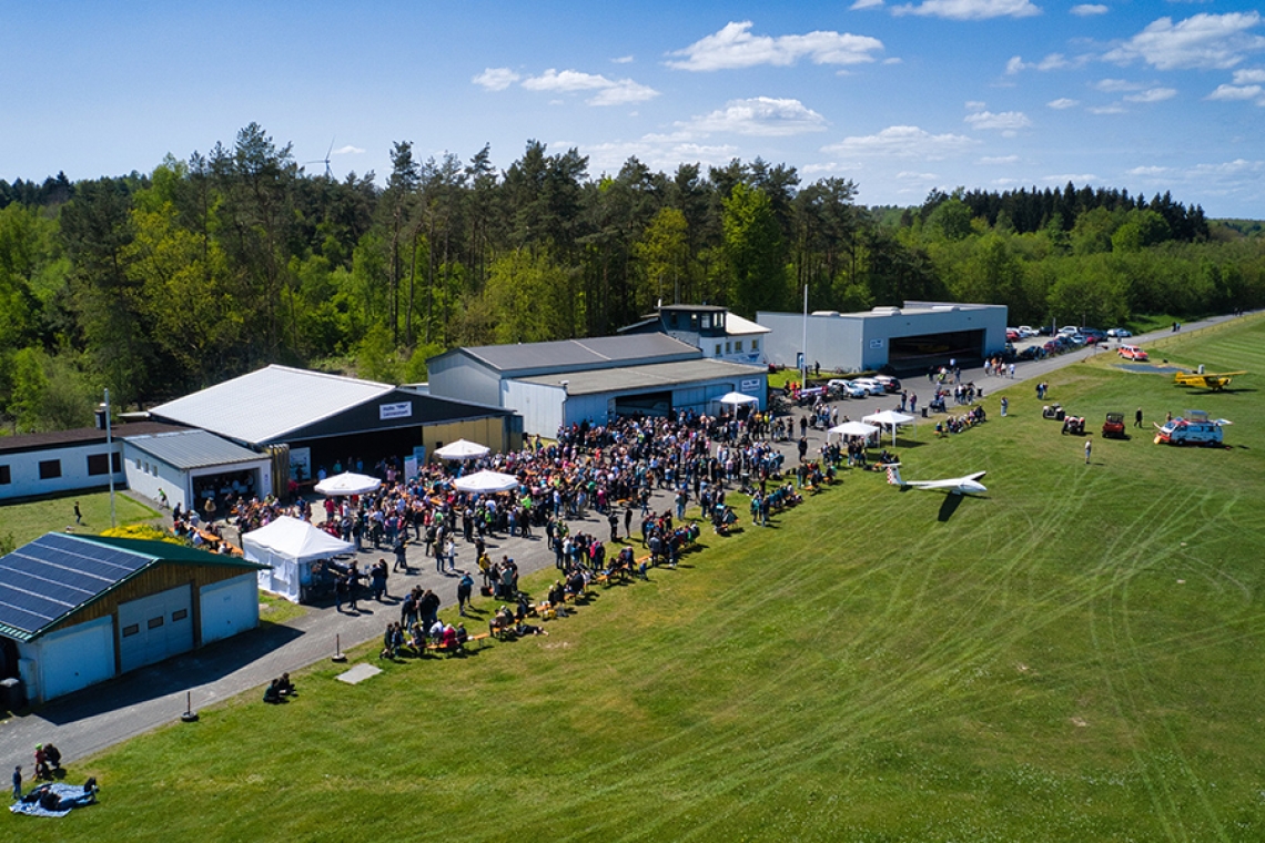
[[921, 373], [950, 360], [978, 364], [1006, 348], [1004, 305], [907, 301], [859, 313], [760, 311], [755, 318], [772, 329], [764, 343], [769, 363], [791, 368], [805, 350], [806, 322], [807, 364], [835, 372]]

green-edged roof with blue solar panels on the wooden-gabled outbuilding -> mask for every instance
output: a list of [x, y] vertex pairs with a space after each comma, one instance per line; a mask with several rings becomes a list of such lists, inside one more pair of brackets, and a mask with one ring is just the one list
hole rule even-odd
[[267, 567], [162, 541], [46, 533], [0, 556], [0, 634], [19, 641], [38, 638], [161, 562]]

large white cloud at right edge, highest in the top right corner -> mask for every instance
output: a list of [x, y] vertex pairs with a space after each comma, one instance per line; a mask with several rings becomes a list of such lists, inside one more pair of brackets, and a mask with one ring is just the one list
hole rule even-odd
[[1246, 53], [1265, 49], [1265, 38], [1247, 32], [1260, 23], [1257, 11], [1198, 14], [1178, 24], [1171, 18], [1160, 18], [1103, 58], [1118, 64], [1142, 59], [1161, 71], [1228, 70], [1242, 62]]

